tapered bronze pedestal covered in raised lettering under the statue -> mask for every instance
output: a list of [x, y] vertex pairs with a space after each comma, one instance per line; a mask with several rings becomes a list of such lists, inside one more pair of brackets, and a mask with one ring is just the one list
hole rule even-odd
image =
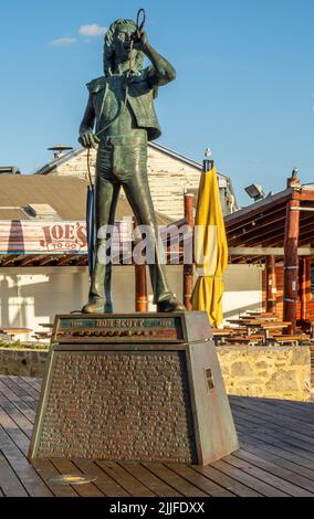
[[207, 465], [239, 448], [206, 313], [55, 319], [30, 458]]

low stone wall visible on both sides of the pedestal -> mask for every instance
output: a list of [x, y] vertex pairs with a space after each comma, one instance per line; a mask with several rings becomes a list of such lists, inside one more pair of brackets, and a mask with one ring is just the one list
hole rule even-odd
[[[228, 394], [311, 400], [310, 347], [217, 348]], [[43, 377], [46, 351], [0, 348], [0, 374]]]

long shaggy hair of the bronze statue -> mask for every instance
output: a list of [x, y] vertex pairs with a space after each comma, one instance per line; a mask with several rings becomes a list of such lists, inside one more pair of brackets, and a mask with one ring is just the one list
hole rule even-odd
[[[104, 73], [106, 76], [113, 74], [114, 66], [115, 66], [115, 43], [114, 36], [117, 28], [119, 25], [124, 25], [126, 28], [130, 28], [133, 31], [136, 31], [137, 27], [133, 20], [124, 20], [119, 19], [113, 22], [105, 34], [104, 41]], [[134, 61], [134, 67], [137, 71], [140, 71], [143, 67], [144, 61], [144, 53], [142, 51], [136, 51], [136, 57]]]

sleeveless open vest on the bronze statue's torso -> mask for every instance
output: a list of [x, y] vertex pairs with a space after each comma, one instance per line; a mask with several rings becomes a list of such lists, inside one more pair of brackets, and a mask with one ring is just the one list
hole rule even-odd
[[[154, 98], [157, 89], [149, 85], [147, 75], [149, 68], [145, 68], [140, 74], [132, 77], [128, 86], [127, 100], [132, 107], [138, 128], [147, 130], [147, 139], [155, 140], [160, 135], [160, 127], [154, 106]], [[111, 121], [112, 115], [106, 109], [106, 94], [109, 88], [111, 77], [98, 77], [87, 84], [92, 103], [96, 115], [96, 133], [102, 130], [104, 115]], [[102, 125], [101, 125], [102, 120]]]

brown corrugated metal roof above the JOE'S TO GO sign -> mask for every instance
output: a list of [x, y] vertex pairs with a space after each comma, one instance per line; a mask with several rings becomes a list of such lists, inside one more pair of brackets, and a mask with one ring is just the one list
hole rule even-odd
[[[36, 174], [0, 176], [0, 221], [32, 220], [23, 210], [29, 204], [49, 204], [56, 213], [55, 220], [85, 221], [86, 192], [88, 182], [75, 177]], [[124, 198], [119, 198], [116, 220], [133, 216]], [[171, 222], [157, 213], [159, 225]], [[36, 219], [34, 219], [36, 220]]]

